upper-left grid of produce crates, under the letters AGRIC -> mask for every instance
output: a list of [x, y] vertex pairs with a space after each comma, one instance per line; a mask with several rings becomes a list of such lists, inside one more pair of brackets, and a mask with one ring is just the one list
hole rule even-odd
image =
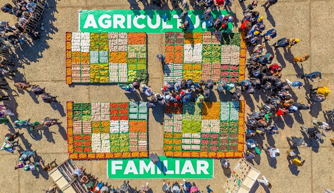
[[66, 83], [147, 79], [146, 33], [66, 32]]

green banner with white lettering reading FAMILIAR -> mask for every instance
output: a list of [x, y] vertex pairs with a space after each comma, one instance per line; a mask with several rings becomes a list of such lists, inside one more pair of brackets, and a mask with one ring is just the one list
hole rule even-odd
[[213, 159], [159, 158], [156, 165], [149, 158], [111, 159], [107, 174], [110, 179], [213, 178]]

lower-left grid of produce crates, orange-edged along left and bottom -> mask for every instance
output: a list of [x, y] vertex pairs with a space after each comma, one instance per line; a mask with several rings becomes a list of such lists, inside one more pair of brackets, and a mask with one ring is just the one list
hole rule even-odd
[[71, 159], [147, 157], [145, 102], [67, 102]]

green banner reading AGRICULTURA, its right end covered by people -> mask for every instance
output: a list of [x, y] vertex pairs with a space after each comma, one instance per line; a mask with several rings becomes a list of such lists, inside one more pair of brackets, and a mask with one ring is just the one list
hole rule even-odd
[[[181, 10], [82, 10], [79, 12], [79, 31], [82, 32], [146, 32], [165, 33], [166, 31], [181, 32], [179, 28]], [[202, 10], [190, 10], [188, 20], [190, 29], [188, 32], [213, 31], [212, 20], [216, 17], [223, 18], [231, 14], [226, 10], [212, 11], [210, 20], [201, 20], [204, 15]], [[232, 24], [223, 32], [231, 32]], [[186, 32], [187, 32], [186, 31]]]

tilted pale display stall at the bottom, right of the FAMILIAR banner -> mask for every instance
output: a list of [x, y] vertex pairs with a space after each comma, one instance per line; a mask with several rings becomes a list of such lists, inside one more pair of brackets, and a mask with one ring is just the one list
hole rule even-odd
[[254, 165], [241, 158], [226, 181], [225, 193], [249, 193], [260, 173]]

